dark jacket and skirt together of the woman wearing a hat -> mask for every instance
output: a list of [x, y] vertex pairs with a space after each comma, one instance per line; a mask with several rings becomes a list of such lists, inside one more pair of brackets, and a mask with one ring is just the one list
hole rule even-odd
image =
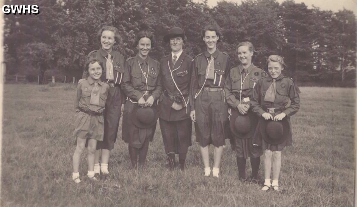
[[[190, 104], [187, 105], [187, 110], [186, 107], [181, 110], [171, 108], [174, 101], [185, 106], [181, 93], [186, 103], [189, 100], [192, 64], [192, 57], [184, 52], [178, 57], [175, 65], [172, 65], [171, 54], [162, 58], [160, 62], [161, 83], [164, 91], [160, 95], [157, 108], [159, 110], [160, 129], [166, 154], [170, 152], [186, 153], [188, 147], [192, 145]], [[172, 80], [170, 69], [181, 93], [177, 90]]]

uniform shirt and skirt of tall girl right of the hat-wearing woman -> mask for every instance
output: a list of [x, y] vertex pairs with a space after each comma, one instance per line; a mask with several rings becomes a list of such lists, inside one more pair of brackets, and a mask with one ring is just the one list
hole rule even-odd
[[[208, 65], [207, 58], [214, 58], [214, 68], [216, 80], [207, 79], [206, 68]], [[190, 90], [190, 106], [191, 111], [196, 110], [196, 141], [202, 147], [208, 144], [213, 144], [216, 147], [225, 145], [225, 138], [229, 136], [228, 123], [228, 105], [226, 103], [226, 95], [224, 84], [230, 69], [231, 59], [225, 52], [220, 52], [218, 49], [210, 54], [207, 50], [195, 57], [193, 61], [193, 70], [191, 77]], [[200, 94], [199, 92], [204, 84]], [[223, 90], [209, 91], [209, 88], [220, 88]]]

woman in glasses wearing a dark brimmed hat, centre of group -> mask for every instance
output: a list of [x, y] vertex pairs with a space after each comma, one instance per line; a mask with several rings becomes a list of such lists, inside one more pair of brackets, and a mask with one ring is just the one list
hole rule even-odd
[[185, 166], [192, 134], [188, 105], [192, 57], [182, 50], [185, 37], [179, 27], [172, 28], [164, 37], [164, 41], [170, 44], [171, 54], [163, 57], [160, 62], [163, 92], [158, 105], [160, 129], [169, 166], [175, 169], [175, 154], [178, 154], [181, 170]]

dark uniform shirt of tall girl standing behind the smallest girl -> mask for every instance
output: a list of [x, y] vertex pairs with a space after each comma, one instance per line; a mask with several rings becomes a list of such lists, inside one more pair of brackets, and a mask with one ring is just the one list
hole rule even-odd
[[[110, 55], [111, 55], [110, 62], [113, 61], [114, 80], [109, 80], [109, 81], [108, 81], [108, 79], [106, 79], [106, 73], [107, 73], [106, 58], [108, 58], [108, 53], [105, 50], [103, 50], [102, 47], [100, 47], [99, 50], [90, 52], [87, 56], [87, 59], [89, 59], [91, 57], [97, 58], [103, 63], [104, 68], [103, 68], [102, 76], [100, 78], [101, 81], [106, 82], [106, 83], [120, 84], [120, 79], [122, 78], [121, 74], [124, 73], [125, 58], [121, 53], [114, 51], [114, 50], [112, 50], [110, 52]], [[87, 78], [88, 76], [89, 76], [89, 74], [87, 71], [83, 72], [82, 78]]]

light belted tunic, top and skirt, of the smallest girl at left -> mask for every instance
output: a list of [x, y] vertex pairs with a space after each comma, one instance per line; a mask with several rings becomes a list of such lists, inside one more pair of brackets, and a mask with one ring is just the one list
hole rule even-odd
[[91, 92], [94, 87], [94, 82], [95, 81], [91, 77], [88, 77], [87, 79], [81, 79], [78, 83], [75, 98], [76, 115], [73, 136], [75, 138], [91, 138], [100, 141], [103, 140], [104, 133], [103, 115], [90, 115], [81, 111], [82, 109], [101, 113], [105, 109], [105, 100], [107, 99], [109, 86], [108, 84], [99, 80], [99, 105], [91, 105], [90, 99]]

